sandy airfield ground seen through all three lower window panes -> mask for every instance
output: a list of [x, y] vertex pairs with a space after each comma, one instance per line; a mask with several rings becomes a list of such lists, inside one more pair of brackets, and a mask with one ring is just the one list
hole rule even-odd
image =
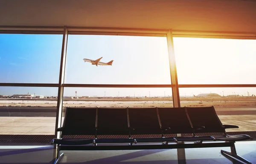
[[[223, 124], [234, 131], [256, 131], [256, 97], [181, 97], [180, 105], [213, 105]], [[0, 99], [1, 134], [54, 134], [56, 99]], [[171, 98], [64, 99], [64, 107], [173, 107]], [[29, 109], [29, 110], [28, 110]]]

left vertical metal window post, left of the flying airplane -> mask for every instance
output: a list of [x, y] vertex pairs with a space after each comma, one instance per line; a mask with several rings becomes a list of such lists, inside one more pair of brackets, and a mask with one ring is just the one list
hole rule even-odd
[[64, 92], [64, 87], [61, 85], [64, 83], [65, 63], [66, 63], [66, 54], [67, 54], [67, 36], [68, 36], [67, 27], [64, 26], [62, 48], [61, 48], [61, 64], [60, 64], [60, 74], [59, 74], [56, 123], [55, 123], [55, 138], [57, 139], [61, 137], [60, 132], [57, 132], [56, 130], [58, 127], [61, 127], [62, 102], [63, 102], [63, 92]]

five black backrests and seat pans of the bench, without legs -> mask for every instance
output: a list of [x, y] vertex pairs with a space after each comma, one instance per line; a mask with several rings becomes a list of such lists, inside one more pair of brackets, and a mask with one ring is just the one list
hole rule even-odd
[[[67, 107], [63, 127], [58, 128], [62, 135], [93, 135], [85, 143], [104, 142], [97, 140], [98, 135], [126, 135], [130, 142], [132, 135], [159, 134], [166, 140], [165, 134], [190, 133], [193, 137], [176, 137], [172, 141], [221, 140], [241, 141], [252, 139], [247, 135], [228, 136], [225, 129], [238, 128], [235, 125], [223, 125], [215, 109], [211, 107], [150, 107], [150, 108], [70, 108]], [[223, 133], [222, 136], [200, 136], [200, 133]], [[196, 136], [197, 134], [197, 136]], [[199, 137], [199, 138], [198, 138]], [[160, 138], [160, 140], [161, 140]], [[135, 141], [154, 141], [154, 139], [136, 139]], [[157, 140], [157, 139], [156, 139]], [[160, 141], [159, 139], [157, 141]], [[161, 140], [161, 141], [163, 141]], [[66, 140], [67, 141], [67, 140]], [[92, 141], [92, 142], [90, 142]], [[111, 139], [105, 140], [111, 141]], [[55, 139], [53, 143], [65, 144], [64, 139]], [[118, 142], [113, 139], [113, 142]], [[69, 144], [67, 141], [66, 144]], [[75, 144], [75, 142], [70, 142]]]

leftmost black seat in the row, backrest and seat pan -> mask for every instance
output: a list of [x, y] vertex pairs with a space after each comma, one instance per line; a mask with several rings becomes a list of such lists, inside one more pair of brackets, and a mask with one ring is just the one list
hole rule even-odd
[[[52, 144], [91, 144], [93, 139], [63, 139], [64, 135], [95, 135], [96, 107], [67, 107], [61, 132], [61, 139], [53, 139]], [[79, 141], [78, 141], [79, 140]]]

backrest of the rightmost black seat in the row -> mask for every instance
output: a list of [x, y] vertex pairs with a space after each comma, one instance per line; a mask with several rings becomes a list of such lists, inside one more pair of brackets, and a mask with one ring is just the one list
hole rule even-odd
[[193, 127], [204, 126], [204, 130], [196, 130], [198, 133], [224, 132], [223, 125], [218, 118], [215, 109], [211, 107], [186, 107], [189, 119]]

